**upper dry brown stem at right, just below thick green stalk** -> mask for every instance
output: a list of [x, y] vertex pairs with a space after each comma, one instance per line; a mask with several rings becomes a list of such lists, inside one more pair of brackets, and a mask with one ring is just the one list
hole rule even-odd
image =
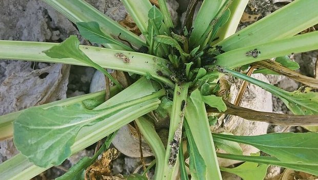
[[284, 67], [280, 63], [277, 63], [275, 61], [265, 60], [265, 61], [254, 62], [253, 64], [260, 65], [262, 67], [270, 69], [270, 70], [274, 71], [275, 73], [279, 73], [281, 75], [284, 75], [288, 78], [291, 78], [295, 81], [298, 81], [298, 82], [303, 83], [305, 85], [308, 85], [310, 87], [318, 88], [318, 80], [317, 79], [310, 78], [310, 77], [301, 75], [299, 73], [296, 73], [295, 71], [290, 70], [287, 67]]

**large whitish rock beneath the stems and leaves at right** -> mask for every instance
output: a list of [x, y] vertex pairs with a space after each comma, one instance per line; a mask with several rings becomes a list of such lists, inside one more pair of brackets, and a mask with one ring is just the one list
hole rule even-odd
[[[252, 77], [268, 83], [268, 80], [262, 74], [254, 74], [252, 75]], [[226, 77], [225, 79], [232, 83], [230, 85], [229, 100], [230, 102], [234, 102], [235, 96], [241, 86], [242, 81], [233, 79], [231, 77]], [[253, 84], [248, 84], [240, 106], [247, 107], [256, 111], [272, 112], [271, 94], [266, 92], [261, 87]], [[234, 135], [253, 136], [266, 134], [267, 128], [268, 123], [266, 122], [249, 121], [238, 116], [228, 115], [224, 118], [219, 118], [217, 124], [211, 127], [211, 131], [215, 133], [230, 132]], [[250, 153], [259, 152], [258, 149], [249, 145], [241, 144], [240, 146], [243, 150], [244, 155], [250, 155]], [[222, 150], [219, 151], [224, 152]], [[218, 158], [218, 164], [220, 166], [227, 167], [235, 163], [238, 163], [238, 161]]]

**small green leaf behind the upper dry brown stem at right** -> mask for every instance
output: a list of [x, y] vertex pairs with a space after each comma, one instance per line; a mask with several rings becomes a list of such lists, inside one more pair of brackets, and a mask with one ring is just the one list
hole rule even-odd
[[[296, 70], [299, 69], [300, 66], [298, 63], [291, 61], [288, 56], [282, 56], [275, 59], [276, 62], [280, 63], [282, 66], [289, 68], [290, 70]], [[255, 73], [262, 73], [266, 75], [279, 75], [278, 73], [275, 73], [272, 70], [266, 69], [266, 68], [260, 68], [257, 70], [254, 70]]]

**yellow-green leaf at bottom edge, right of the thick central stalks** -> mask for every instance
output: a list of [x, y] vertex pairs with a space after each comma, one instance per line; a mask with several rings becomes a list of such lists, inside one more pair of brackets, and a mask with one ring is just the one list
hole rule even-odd
[[269, 165], [246, 162], [236, 168], [220, 167], [221, 171], [236, 174], [243, 180], [263, 180]]

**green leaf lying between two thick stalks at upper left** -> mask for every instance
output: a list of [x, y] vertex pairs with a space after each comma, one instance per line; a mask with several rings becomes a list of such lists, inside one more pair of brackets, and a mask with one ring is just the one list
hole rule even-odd
[[102, 32], [100, 25], [97, 22], [77, 22], [76, 25], [79, 33], [81, 33], [81, 35], [90, 42], [97, 44], [115, 44], [123, 47], [126, 50], [134, 51], [132, 48]]

